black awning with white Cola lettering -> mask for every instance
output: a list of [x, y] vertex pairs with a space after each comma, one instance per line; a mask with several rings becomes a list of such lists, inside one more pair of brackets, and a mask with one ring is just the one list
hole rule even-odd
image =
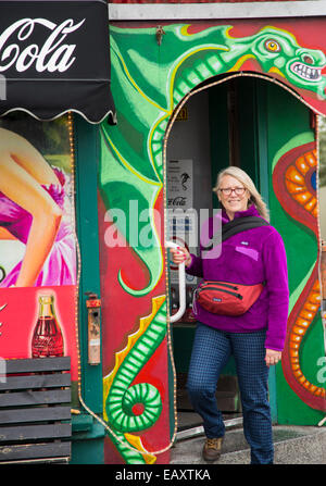
[[104, 0], [0, 0], [0, 115], [114, 119]]

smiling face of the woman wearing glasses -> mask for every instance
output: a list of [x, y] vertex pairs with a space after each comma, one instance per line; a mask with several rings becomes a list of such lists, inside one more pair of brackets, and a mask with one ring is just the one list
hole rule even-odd
[[228, 217], [233, 220], [237, 211], [247, 210], [250, 192], [237, 178], [230, 175], [224, 175], [217, 189], [217, 198], [223, 204]]

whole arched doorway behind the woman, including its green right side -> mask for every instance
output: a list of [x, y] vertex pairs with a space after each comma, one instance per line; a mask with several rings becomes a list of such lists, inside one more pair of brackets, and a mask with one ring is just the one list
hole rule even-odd
[[[315, 139], [310, 110], [283, 87], [255, 76], [230, 76], [220, 83], [191, 94], [183, 105], [177, 119], [167, 130], [166, 142], [166, 202], [168, 209], [193, 208], [199, 214], [206, 210], [212, 214], [218, 208], [212, 187], [220, 170], [237, 165], [253, 179], [265, 202], [272, 210], [272, 224], [283, 222], [278, 214], [279, 203], [274, 195], [273, 164], [288, 140], [303, 142]], [[181, 182], [177, 185], [177, 177]], [[274, 215], [275, 220], [273, 221]], [[195, 217], [195, 216], [193, 216]], [[201, 217], [197, 219], [200, 223]], [[276, 226], [277, 226], [276, 225]], [[189, 250], [199, 252], [199, 224], [185, 217], [184, 239]], [[180, 227], [171, 219], [170, 236]], [[283, 223], [279, 229], [283, 232]], [[195, 234], [195, 238], [193, 238]], [[292, 234], [292, 232], [291, 232]], [[285, 236], [286, 247], [291, 247]], [[183, 238], [181, 238], [183, 239]], [[189, 241], [188, 241], [189, 240]], [[195, 244], [193, 244], [195, 241]], [[181, 240], [177, 241], [183, 244]], [[291, 260], [289, 261], [291, 272]], [[171, 312], [178, 308], [178, 283], [176, 269], [170, 267]], [[294, 273], [292, 273], [294, 275]], [[291, 283], [290, 283], [291, 284]], [[172, 324], [174, 360], [177, 378], [178, 434], [191, 427], [200, 427], [201, 419], [193, 414], [186, 390], [196, 320], [191, 315], [192, 294], [197, 281], [186, 279], [187, 310], [184, 316]], [[241, 418], [241, 406], [235, 363], [227, 363], [216, 389], [217, 403], [226, 419]], [[269, 371], [269, 401], [272, 418], [277, 421], [276, 371]], [[233, 422], [230, 422], [233, 423]]]

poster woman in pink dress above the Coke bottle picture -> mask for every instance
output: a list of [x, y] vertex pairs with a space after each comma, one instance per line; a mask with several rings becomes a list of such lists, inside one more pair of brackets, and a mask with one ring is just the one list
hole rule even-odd
[[74, 285], [75, 238], [65, 221], [63, 172], [24, 137], [0, 128], [0, 239], [25, 245], [24, 258], [0, 287]]

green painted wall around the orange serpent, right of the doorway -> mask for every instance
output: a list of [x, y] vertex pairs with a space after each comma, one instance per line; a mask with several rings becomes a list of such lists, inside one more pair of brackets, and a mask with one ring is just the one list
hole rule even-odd
[[[290, 147], [314, 140], [310, 126], [310, 110], [286, 90], [267, 86], [268, 167], [269, 172], [280, 153]], [[281, 233], [288, 257], [290, 295], [304, 287], [317, 259], [317, 240], [310, 228], [296, 222], [275, 197], [269, 177], [269, 208], [272, 224]], [[291, 300], [291, 306], [293, 301]], [[311, 324], [300, 347], [300, 362], [304, 376], [316, 386], [317, 360], [325, 356], [323, 325], [319, 313]], [[316, 425], [324, 416], [319, 410], [305, 404], [288, 385], [281, 366], [276, 369], [277, 415], [280, 424]]]

